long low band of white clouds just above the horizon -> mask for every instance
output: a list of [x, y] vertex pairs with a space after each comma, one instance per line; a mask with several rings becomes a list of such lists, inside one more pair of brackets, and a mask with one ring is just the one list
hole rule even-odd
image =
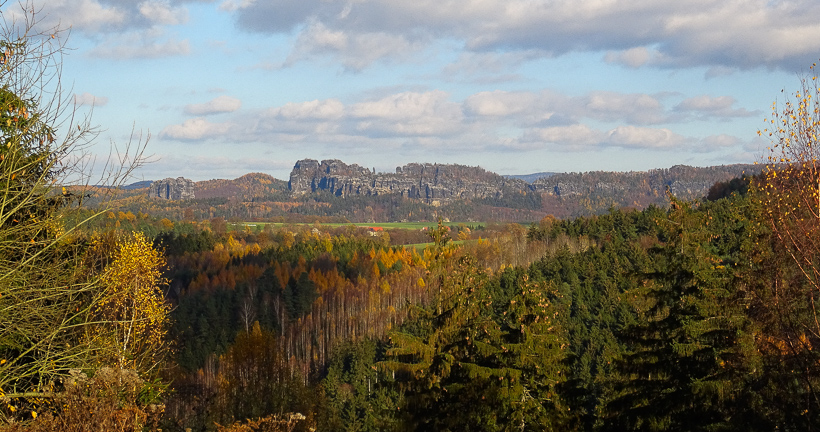
[[[684, 136], [676, 125], [701, 116], [745, 117], [728, 96], [667, 101], [665, 95], [555, 91], [478, 92], [462, 101], [442, 90], [407, 91], [345, 104], [338, 99], [290, 102], [264, 110], [240, 110], [237, 99], [220, 96], [185, 112], [199, 117], [169, 125], [160, 138], [186, 142], [324, 144], [362, 151], [407, 146], [440, 151], [561, 152], [605, 148], [659, 151], [720, 151], [742, 145], [729, 135]], [[217, 123], [203, 116], [233, 114]]]

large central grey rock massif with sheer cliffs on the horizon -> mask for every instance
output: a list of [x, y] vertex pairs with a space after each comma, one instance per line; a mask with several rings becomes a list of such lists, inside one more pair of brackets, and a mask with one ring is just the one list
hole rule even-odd
[[529, 189], [518, 179], [506, 179], [480, 167], [411, 163], [396, 173], [375, 173], [338, 159], [296, 162], [288, 184], [293, 196], [325, 191], [339, 197], [397, 194], [441, 204], [455, 199], [503, 198], [511, 190]]

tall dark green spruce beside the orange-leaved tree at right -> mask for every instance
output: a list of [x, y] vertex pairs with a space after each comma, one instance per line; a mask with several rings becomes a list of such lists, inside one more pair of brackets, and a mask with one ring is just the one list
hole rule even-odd
[[631, 352], [618, 364], [608, 430], [730, 428], [746, 411], [755, 362], [748, 292], [731, 251], [718, 247], [712, 215], [674, 199], [672, 208], [658, 270], [632, 293], [646, 308], [623, 333]]

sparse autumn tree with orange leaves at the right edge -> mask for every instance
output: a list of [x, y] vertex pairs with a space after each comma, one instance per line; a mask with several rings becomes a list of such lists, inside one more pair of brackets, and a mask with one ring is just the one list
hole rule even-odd
[[758, 281], [761, 313], [757, 318], [766, 332], [761, 349], [779, 353], [781, 379], [803, 405], [798, 415], [790, 409], [783, 412], [790, 413], [796, 424], [805, 419], [802, 424], [809, 425], [820, 418], [820, 78], [816, 67], [801, 79], [797, 92], [772, 105], [767, 127], [758, 131], [771, 145], [762, 178], [752, 183], [751, 192], [764, 221], [757, 233], [757, 257], [768, 268], [760, 272], [763, 277]]

